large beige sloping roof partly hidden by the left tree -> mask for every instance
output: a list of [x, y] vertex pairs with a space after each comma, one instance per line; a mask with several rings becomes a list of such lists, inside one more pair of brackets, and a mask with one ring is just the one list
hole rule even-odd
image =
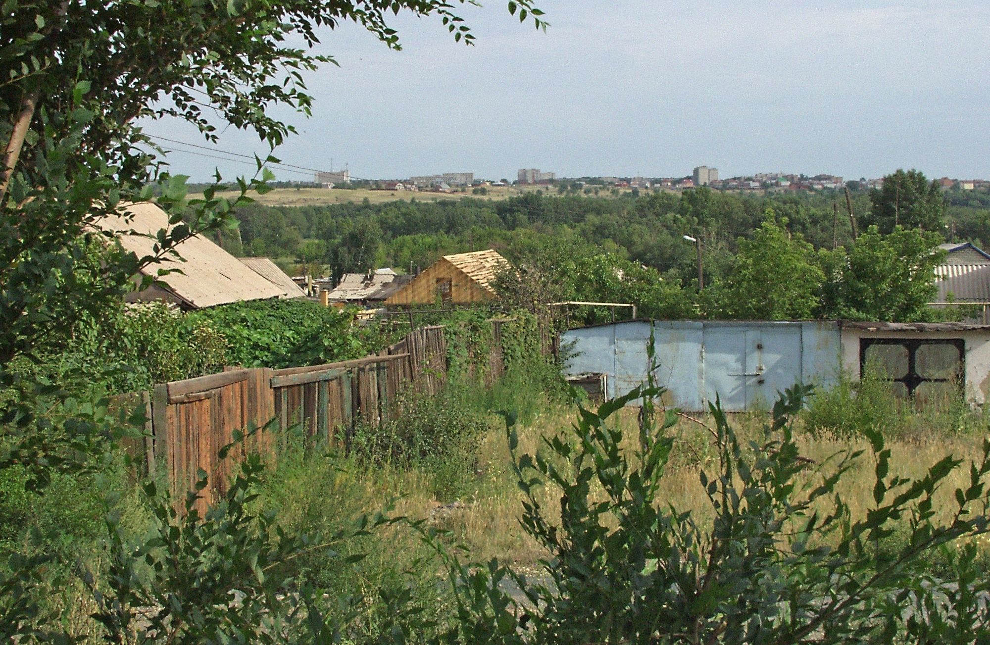
[[[126, 219], [124, 212], [128, 214]], [[133, 216], [133, 219], [131, 219]], [[170, 229], [168, 216], [153, 204], [129, 204], [122, 207], [119, 216], [99, 220], [97, 228], [112, 232], [125, 250], [138, 257], [153, 254], [157, 243], [153, 235], [158, 230]], [[134, 232], [131, 232], [134, 231]], [[137, 233], [137, 234], [135, 234]], [[149, 233], [146, 237], [142, 233]], [[180, 242], [174, 256], [151, 264], [143, 270], [147, 275], [157, 275], [158, 269], [179, 269], [182, 273], [169, 273], [160, 278], [162, 286], [180, 301], [194, 308], [213, 307], [243, 300], [287, 298], [290, 292], [281, 289], [242, 264], [220, 246], [202, 235], [194, 235]]]

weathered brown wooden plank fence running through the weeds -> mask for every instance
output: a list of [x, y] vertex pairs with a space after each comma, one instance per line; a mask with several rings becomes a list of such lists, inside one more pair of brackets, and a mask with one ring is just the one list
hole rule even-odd
[[[114, 405], [145, 408], [150, 419], [146, 436], [129, 440], [125, 447], [145, 463], [149, 474], [165, 469], [176, 499], [192, 489], [200, 470], [210, 476], [201, 500], [205, 508], [225, 492], [237, 468], [238, 459], [217, 456], [223, 446], [235, 442], [235, 432], [264, 428], [269, 422], [280, 429], [299, 424], [308, 435], [331, 442], [358, 422], [386, 421], [404, 388], [439, 393], [445, 377], [444, 328], [428, 326], [375, 356], [279, 370], [230, 368], [158, 384], [151, 393], [123, 395]], [[270, 453], [272, 441], [271, 432], [261, 429], [246, 447]]]

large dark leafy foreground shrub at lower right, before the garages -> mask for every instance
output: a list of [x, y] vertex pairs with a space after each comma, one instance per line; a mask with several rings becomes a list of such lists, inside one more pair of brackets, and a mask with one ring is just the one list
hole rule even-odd
[[[743, 446], [718, 403], [710, 428], [718, 470], [702, 472], [714, 519], [656, 499], [674, 449], [668, 412], [654, 421], [662, 389], [638, 388], [597, 412], [580, 410], [569, 432], [547, 437], [544, 451], [515, 458], [525, 495], [523, 525], [545, 547], [539, 577], [528, 580], [497, 562], [468, 566], [446, 556], [457, 593], [450, 640], [470, 643], [847, 643], [979, 641], [990, 612], [978, 599], [988, 585], [964, 548], [953, 572], [965, 591], [923, 573], [929, 554], [985, 534], [990, 442], [955, 492], [950, 520], [933, 517], [940, 483], [962, 461], [945, 457], [918, 480], [888, 475], [890, 450], [870, 432], [874, 506], [853, 516], [839, 486], [861, 459], [845, 451], [811, 464], [790, 418], [809, 389], [796, 386], [773, 407], [763, 444]], [[609, 419], [642, 397], [646, 414], [633, 455]], [[507, 418], [516, 448], [513, 418]], [[536, 491], [559, 492], [558, 517]], [[881, 558], [875, 545], [902, 518], [907, 539]], [[438, 547], [439, 548], [439, 547]], [[440, 549], [443, 551], [443, 549]], [[505, 594], [511, 579], [524, 601]], [[545, 582], [542, 582], [545, 581]], [[946, 601], [951, 594], [951, 602]], [[914, 609], [913, 611], [911, 609]]]

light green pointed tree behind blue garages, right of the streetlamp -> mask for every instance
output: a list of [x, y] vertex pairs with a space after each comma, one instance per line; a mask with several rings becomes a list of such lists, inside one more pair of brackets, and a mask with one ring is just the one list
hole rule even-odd
[[718, 316], [768, 321], [812, 318], [825, 275], [815, 263], [812, 245], [786, 226], [786, 219], [778, 220], [767, 210], [752, 237], [739, 240], [732, 272], [707, 296]]

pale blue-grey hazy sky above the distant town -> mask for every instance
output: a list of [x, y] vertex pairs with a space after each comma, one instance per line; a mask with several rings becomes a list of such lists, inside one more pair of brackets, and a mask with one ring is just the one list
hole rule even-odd
[[[340, 67], [306, 77], [311, 118], [275, 113], [299, 130], [276, 156], [369, 179], [667, 177], [702, 164], [721, 177], [990, 178], [986, 0], [537, 0], [545, 33], [483, 1], [459, 9], [475, 46], [408, 16], [392, 21], [401, 51], [354, 25], [322, 33], [317, 52]], [[177, 121], [144, 126], [203, 143]], [[267, 152], [233, 127], [217, 147]], [[252, 171], [180, 148], [172, 171], [194, 181]]]

